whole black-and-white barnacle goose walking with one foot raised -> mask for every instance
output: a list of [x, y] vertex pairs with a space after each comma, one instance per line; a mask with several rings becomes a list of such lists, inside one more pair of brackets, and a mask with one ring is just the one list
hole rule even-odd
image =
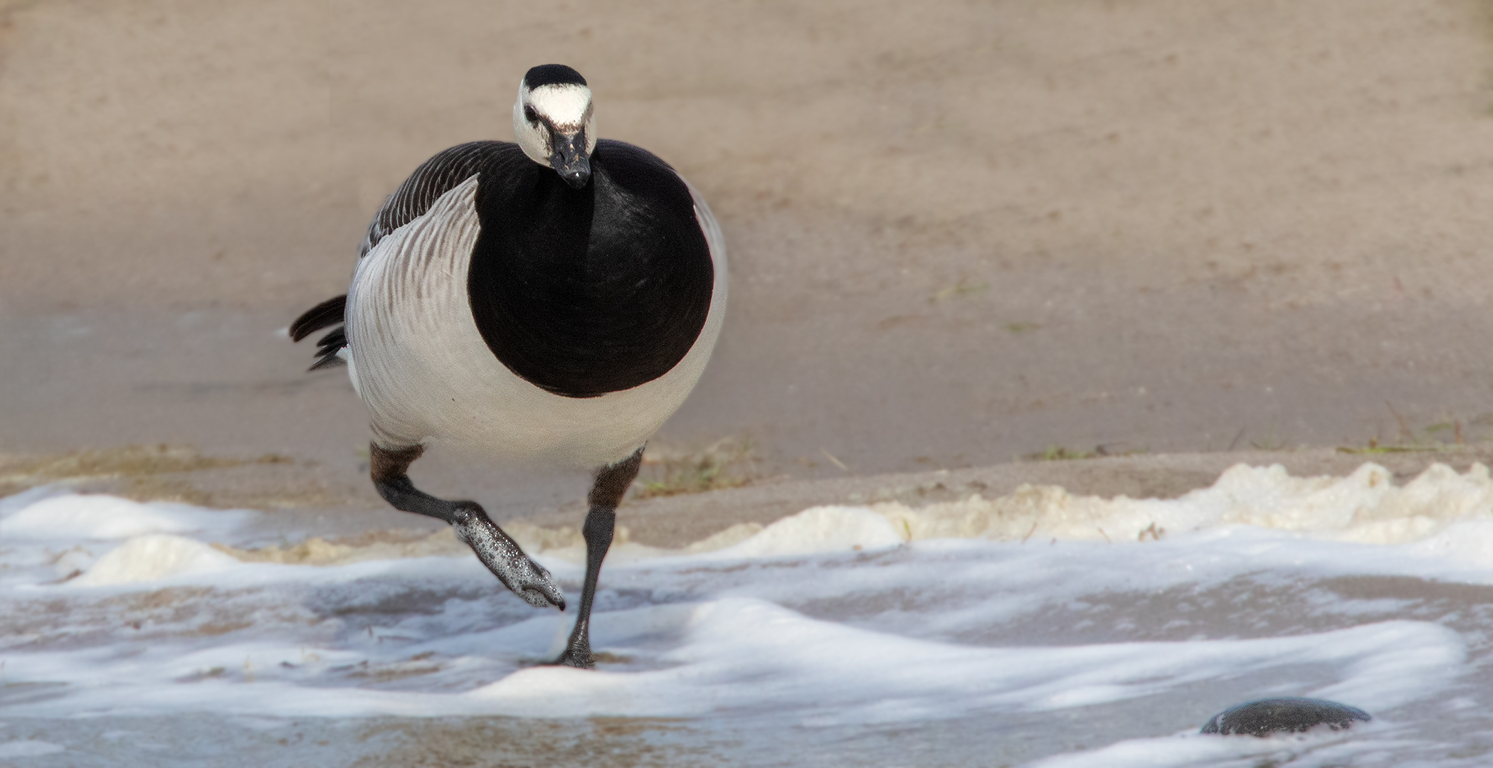
[[643, 446], [694, 388], [726, 313], [726, 249], [705, 200], [636, 146], [599, 140], [578, 72], [524, 75], [518, 143], [427, 160], [384, 203], [348, 294], [302, 315], [312, 370], [346, 362], [367, 404], [370, 474], [399, 510], [446, 520], [508, 589], [566, 601], [473, 501], [411, 483], [424, 446], [594, 470], [585, 585], [557, 664], [591, 667], [588, 622], [615, 510]]

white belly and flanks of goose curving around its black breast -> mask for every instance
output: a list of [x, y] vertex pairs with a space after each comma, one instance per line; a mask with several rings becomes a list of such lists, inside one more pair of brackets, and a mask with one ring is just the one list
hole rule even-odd
[[[546, 392], [514, 374], [472, 319], [467, 262], [479, 233], [478, 177], [379, 240], [348, 289], [348, 374], [381, 447], [431, 441], [494, 458], [596, 468], [638, 450], [705, 371], [726, 316], [726, 249], [694, 195], [711, 246], [711, 310], [684, 359], [652, 382], [594, 398]], [[691, 189], [693, 194], [693, 189]]]

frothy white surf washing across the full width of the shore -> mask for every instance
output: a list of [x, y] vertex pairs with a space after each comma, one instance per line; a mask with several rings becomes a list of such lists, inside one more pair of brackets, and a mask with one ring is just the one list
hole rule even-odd
[[[0, 701], [0, 716], [735, 717], [772, 732], [1084, 711], [1130, 725], [1024, 759], [1315, 765], [1351, 762], [1360, 743], [1426, 750], [1433, 728], [1417, 713], [1475, 710], [1442, 702], [1487, 667], [1493, 482], [1481, 465], [1391, 480], [1374, 464], [1348, 477], [1241, 465], [1176, 500], [1023, 486], [814, 507], [679, 550], [623, 543], [593, 622], [608, 661], [590, 673], [536, 667], [572, 614], [503, 592], [446, 532], [234, 549], [218, 537], [251, 513], [0, 500], [0, 661], [9, 684], [54, 690]], [[514, 535], [578, 589], [573, 531]], [[1486, 595], [1344, 597], [1365, 579]], [[1357, 741], [1194, 735], [1265, 695], [1377, 720]], [[1190, 720], [1145, 714], [1178, 696], [1199, 701]]]

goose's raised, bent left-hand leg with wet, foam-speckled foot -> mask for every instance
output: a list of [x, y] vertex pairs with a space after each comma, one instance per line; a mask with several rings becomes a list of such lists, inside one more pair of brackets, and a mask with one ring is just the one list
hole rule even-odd
[[369, 444], [369, 474], [373, 488], [396, 510], [414, 512], [445, 520], [455, 528], [457, 538], [466, 541], [482, 565], [497, 576], [503, 586], [530, 605], [564, 610], [564, 594], [549, 577], [549, 571], [529, 559], [502, 528], [475, 501], [446, 501], [431, 497], [409, 482], [409, 465], [424, 453], [424, 446], [384, 449]]

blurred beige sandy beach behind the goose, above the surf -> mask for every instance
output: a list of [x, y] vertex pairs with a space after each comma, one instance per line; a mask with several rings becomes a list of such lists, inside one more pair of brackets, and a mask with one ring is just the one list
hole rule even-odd
[[812, 480], [1493, 434], [1487, 3], [621, 7], [0, 0], [0, 450], [278, 453], [255, 498], [376, 504], [361, 406], [278, 331], [545, 61], [732, 249], [664, 446]]

